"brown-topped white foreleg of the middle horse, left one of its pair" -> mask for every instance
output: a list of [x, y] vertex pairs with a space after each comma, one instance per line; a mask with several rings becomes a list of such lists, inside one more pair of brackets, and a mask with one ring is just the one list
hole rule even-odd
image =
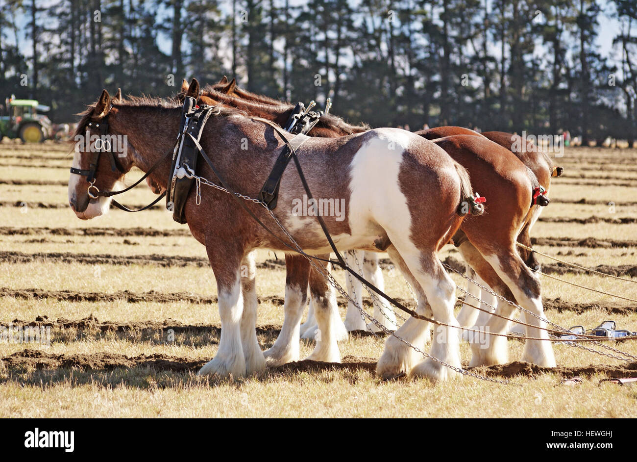
[[285, 301], [283, 327], [274, 345], [264, 352], [269, 366], [299, 360], [299, 329], [307, 302], [310, 262], [305, 257], [285, 254]]

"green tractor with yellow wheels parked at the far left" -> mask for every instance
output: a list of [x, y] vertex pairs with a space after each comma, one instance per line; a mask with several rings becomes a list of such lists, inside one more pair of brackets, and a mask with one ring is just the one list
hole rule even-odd
[[50, 138], [53, 126], [46, 115], [50, 108], [35, 99], [6, 99], [4, 113], [0, 115], [0, 140], [3, 136], [20, 138], [23, 143], [40, 143]]

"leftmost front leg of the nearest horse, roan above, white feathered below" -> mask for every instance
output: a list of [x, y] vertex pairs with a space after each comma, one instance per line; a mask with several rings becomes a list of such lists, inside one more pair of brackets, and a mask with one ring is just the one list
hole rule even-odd
[[[224, 242], [218, 239], [206, 239], [206, 241]], [[224, 249], [213, 248], [206, 243], [206, 250], [217, 280], [221, 338], [217, 356], [199, 370], [199, 375], [243, 377], [246, 374], [246, 363], [241, 344], [243, 297], [241, 296], [240, 272], [244, 252], [238, 246], [233, 247], [232, 243], [227, 243]]]

